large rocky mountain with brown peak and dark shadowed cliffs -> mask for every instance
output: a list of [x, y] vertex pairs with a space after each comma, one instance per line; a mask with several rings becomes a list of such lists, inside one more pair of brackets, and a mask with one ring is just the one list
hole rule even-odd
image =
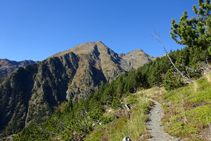
[[[149, 59], [143, 59], [141, 54]], [[47, 119], [64, 101], [86, 98], [98, 89], [101, 81], [143, 65], [140, 58], [147, 62], [152, 57], [141, 50], [118, 55], [98, 41], [17, 68], [0, 82], [1, 136]]]

